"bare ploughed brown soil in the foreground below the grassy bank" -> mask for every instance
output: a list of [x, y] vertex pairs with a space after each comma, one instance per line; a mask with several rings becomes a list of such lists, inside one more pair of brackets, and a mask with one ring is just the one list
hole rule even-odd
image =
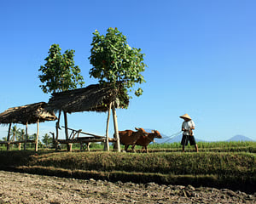
[[0, 171], [2, 203], [256, 203], [256, 193], [154, 183], [112, 183]]

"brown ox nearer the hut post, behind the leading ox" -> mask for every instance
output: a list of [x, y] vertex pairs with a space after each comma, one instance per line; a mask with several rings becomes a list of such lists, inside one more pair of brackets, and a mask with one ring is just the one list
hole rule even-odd
[[[145, 137], [148, 133], [143, 128], [135, 127], [137, 132], [132, 130], [119, 131], [120, 144], [125, 145], [125, 151], [127, 151], [129, 145], [134, 145], [137, 139]], [[132, 149], [134, 151], [134, 149]]]

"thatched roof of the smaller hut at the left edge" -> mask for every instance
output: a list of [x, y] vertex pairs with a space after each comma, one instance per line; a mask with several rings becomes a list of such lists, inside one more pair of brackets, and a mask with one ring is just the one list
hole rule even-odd
[[47, 104], [39, 102], [31, 105], [23, 105], [15, 108], [9, 108], [0, 114], [0, 124], [21, 123], [32, 124], [45, 121], [55, 121], [57, 117], [53, 112], [46, 111]]

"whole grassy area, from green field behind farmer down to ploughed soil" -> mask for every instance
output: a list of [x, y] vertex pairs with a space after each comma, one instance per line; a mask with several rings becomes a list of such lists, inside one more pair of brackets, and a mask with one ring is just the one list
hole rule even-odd
[[2, 150], [0, 164], [2, 169], [74, 178], [254, 189], [255, 142], [198, 145], [199, 153], [193, 146], [182, 153], [178, 144], [150, 144], [148, 154], [106, 152], [101, 145], [90, 152]]

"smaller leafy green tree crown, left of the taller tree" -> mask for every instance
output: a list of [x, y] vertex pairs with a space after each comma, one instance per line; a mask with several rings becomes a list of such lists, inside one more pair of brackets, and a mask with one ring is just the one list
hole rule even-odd
[[38, 71], [42, 74], [38, 76], [43, 85], [44, 93], [55, 93], [66, 91], [77, 86], [83, 86], [83, 77], [80, 75], [78, 65], [74, 65], [74, 50], [66, 50], [61, 54], [61, 48], [58, 44], [52, 44], [49, 48], [49, 56], [44, 59], [45, 65], [41, 65]]

